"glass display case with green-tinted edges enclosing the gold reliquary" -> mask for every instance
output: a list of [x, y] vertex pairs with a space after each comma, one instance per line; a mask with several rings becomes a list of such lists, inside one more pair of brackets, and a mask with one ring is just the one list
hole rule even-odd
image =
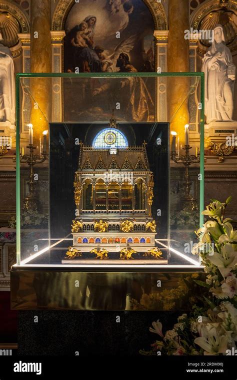
[[199, 266], [202, 73], [17, 74], [16, 92], [16, 268]]

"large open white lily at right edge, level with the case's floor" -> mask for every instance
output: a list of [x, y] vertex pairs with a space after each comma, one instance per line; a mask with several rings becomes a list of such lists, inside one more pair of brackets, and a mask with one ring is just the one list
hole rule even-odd
[[209, 256], [208, 259], [218, 267], [221, 275], [225, 278], [237, 264], [237, 252], [233, 251], [231, 244], [226, 243], [221, 248], [221, 253], [214, 252], [213, 256]]

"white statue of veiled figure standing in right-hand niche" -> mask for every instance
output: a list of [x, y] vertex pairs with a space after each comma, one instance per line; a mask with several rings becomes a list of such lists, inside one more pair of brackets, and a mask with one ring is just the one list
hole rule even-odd
[[232, 120], [235, 65], [225, 46], [221, 25], [213, 30], [213, 41], [203, 57], [201, 71], [205, 74], [206, 123]]

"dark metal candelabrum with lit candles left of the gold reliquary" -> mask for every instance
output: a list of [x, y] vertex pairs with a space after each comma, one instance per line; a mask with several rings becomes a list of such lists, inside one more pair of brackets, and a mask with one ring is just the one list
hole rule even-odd
[[24, 198], [24, 210], [37, 211], [36, 181], [34, 180], [33, 167], [47, 160], [48, 154], [45, 151], [41, 155], [33, 154], [34, 149], [36, 149], [33, 144], [29, 144], [26, 148], [29, 149], [29, 154], [22, 155], [20, 153], [20, 162], [29, 165], [29, 181], [27, 182], [29, 194]]

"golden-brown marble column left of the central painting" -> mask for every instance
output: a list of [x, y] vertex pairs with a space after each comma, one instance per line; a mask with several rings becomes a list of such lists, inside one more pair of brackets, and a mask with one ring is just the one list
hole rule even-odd
[[[50, 0], [31, 0], [30, 3], [30, 71], [51, 73]], [[48, 129], [51, 105], [51, 79], [31, 78], [31, 123], [38, 140]], [[34, 142], [34, 144], [36, 141]]]

